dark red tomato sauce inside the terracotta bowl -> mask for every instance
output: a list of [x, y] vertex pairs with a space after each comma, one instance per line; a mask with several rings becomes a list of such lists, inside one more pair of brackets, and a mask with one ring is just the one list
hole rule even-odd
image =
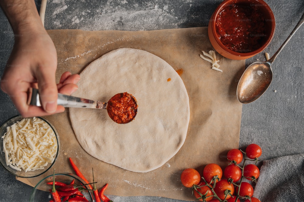
[[239, 53], [257, 50], [268, 36], [259, 6], [249, 4], [224, 7], [216, 17], [216, 33], [224, 46]]

